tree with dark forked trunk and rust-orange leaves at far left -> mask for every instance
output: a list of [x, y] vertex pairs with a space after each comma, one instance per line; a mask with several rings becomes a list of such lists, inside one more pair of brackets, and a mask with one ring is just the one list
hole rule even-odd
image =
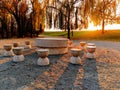
[[24, 24], [26, 18], [26, 13], [28, 11], [28, 5], [26, 4], [26, 0], [1, 0], [2, 8], [7, 10], [11, 15], [14, 16], [17, 29], [18, 29], [18, 37], [23, 37], [24, 34]]

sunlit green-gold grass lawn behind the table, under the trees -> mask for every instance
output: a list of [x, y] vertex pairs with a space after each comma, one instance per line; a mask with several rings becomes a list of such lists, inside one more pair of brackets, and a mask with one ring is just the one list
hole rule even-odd
[[[67, 32], [44, 32], [42, 35], [67, 37]], [[120, 30], [107, 30], [104, 34], [101, 31], [75, 31], [71, 39], [120, 41]]]

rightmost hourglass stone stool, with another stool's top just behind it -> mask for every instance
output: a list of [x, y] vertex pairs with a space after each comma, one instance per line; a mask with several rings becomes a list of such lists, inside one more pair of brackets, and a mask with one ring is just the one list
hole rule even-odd
[[86, 58], [91, 58], [91, 59], [96, 58], [95, 50], [96, 50], [95, 44], [89, 43], [87, 46]]

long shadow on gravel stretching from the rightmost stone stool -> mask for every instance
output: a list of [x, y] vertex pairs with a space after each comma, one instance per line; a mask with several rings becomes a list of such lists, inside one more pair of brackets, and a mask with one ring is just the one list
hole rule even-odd
[[101, 90], [95, 59], [86, 59], [83, 77], [84, 90]]

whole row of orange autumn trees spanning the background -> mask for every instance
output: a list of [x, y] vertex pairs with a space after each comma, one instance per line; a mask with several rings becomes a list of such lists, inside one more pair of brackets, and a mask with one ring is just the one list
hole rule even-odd
[[1, 0], [0, 38], [33, 37], [57, 28], [70, 39], [73, 29], [90, 23], [104, 33], [105, 25], [120, 23], [119, 6], [120, 0]]

